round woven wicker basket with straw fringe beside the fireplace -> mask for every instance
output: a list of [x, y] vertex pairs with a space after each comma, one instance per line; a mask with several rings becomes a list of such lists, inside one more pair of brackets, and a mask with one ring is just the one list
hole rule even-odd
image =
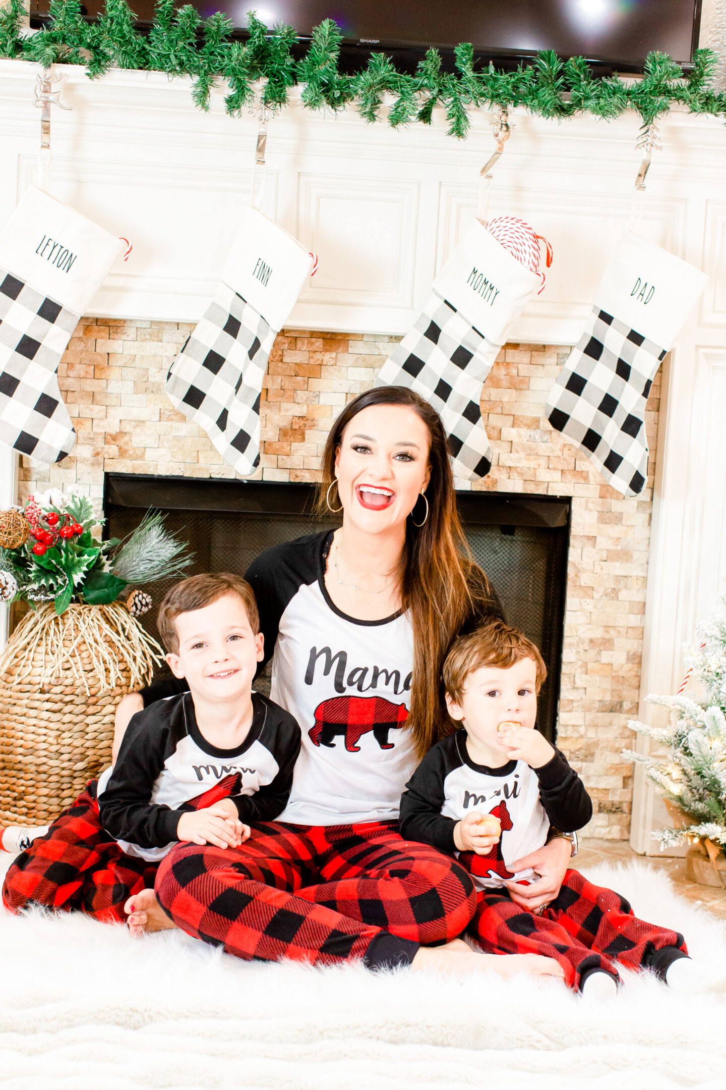
[[0, 657], [0, 823], [53, 821], [110, 764], [115, 706], [160, 655], [119, 603], [23, 618]]

